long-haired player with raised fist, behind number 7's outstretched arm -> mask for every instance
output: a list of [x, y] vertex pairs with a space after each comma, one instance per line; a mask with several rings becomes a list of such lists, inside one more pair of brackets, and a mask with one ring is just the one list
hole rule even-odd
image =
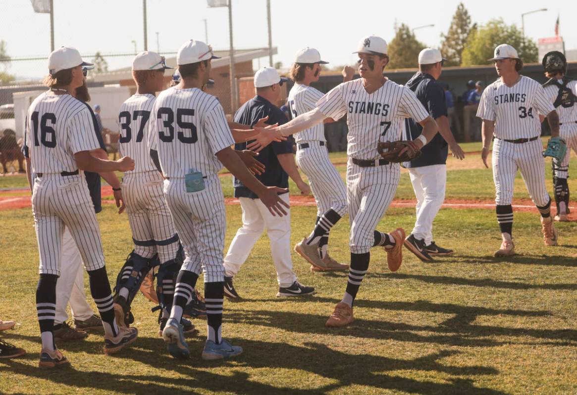
[[[324, 94], [310, 86], [319, 81], [321, 64], [319, 51], [306, 47], [297, 52], [290, 77], [295, 82], [288, 93], [291, 117], [309, 112]], [[332, 119], [325, 119], [325, 122]], [[347, 212], [347, 189], [340, 174], [328, 158], [327, 140], [322, 123], [294, 136], [297, 143], [297, 165], [309, 178], [310, 189], [317, 203], [317, 220], [312, 233], [295, 245], [295, 251], [308, 260], [311, 269], [345, 270], [343, 265], [328, 255], [328, 236], [333, 227]]]

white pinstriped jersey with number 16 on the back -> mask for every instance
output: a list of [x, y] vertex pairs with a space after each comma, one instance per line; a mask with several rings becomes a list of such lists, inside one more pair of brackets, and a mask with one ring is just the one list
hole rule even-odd
[[88, 105], [52, 92], [40, 94], [30, 105], [25, 145], [33, 173], [74, 172], [74, 154], [100, 148]]

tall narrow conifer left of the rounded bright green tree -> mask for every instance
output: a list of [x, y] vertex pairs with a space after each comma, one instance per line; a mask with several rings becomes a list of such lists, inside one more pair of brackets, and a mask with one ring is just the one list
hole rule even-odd
[[471, 31], [476, 26], [476, 24], [471, 26], [469, 11], [467, 11], [463, 3], [459, 3], [453, 15], [451, 26], [449, 26], [449, 31], [446, 35], [441, 33], [441, 37], [443, 37], [441, 54], [443, 54], [443, 58], [447, 59], [447, 62], [445, 62], [447, 66], [460, 66], [467, 39], [469, 39]]

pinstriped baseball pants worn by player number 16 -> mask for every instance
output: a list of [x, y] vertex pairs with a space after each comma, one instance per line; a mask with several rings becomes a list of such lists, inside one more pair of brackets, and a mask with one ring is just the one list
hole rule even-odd
[[36, 177], [32, 211], [40, 253], [40, 274], [60, 275], [65, 225], [80, 250], [84, 267], [88, 271], [104, 267], [100, 228], [83, 172], [76, 176], [43, 174]]

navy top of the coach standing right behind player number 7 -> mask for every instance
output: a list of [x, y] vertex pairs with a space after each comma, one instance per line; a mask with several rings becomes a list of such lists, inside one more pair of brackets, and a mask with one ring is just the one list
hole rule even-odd
[[[445, 100], [445, 91], [440, 83], [437, 83], [432, 75], [421, 73], [420, 71], [413, 75], [406, 85], [410, 90], [415, 92], [419, 101], [425, 106], [429, 115], [433, 119], [441, 116], [447, 116], [447, 102]], [[423, 127], [415, 122], [414, 119], [405, 120], [405, 127], [411, 140], [416, 139]], [[449, 153], [448, 145], [439, 132], [424, 146], [421, 150], [421, 157], [410, 161], [407, 168], [420, 168], [422, 166], [444, 165], [447, 162]]]

